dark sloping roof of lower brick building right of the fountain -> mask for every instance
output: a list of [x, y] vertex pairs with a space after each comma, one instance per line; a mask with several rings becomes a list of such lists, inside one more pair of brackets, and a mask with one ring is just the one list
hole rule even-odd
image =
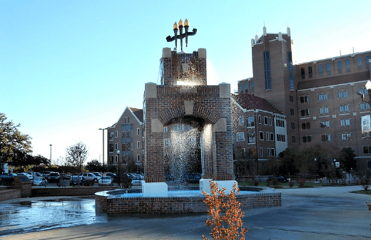
[[[233, 100], [235, 100], [241, 108], [245, 110], [265, 110], [271, 113], [280, 113], [280, 111], [271, 105], [267, 100], [264, 98], [259, 98], [255, 95], [251, 95], [248, 93], [240, 93], [240, 94], [231, 94]], [[282, 114], [282, 113], [280, 113]]]

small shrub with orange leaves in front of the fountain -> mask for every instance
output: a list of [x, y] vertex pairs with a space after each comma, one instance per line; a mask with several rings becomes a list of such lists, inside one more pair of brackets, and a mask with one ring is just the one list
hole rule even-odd
[[[208, 214], [211, 216], [205, 224], [210, 226], [210, 235], [214, 240], [245, 240], [245, 233], [249, 229], [242, 227], [242, 217], [245, 213], [241, 212], [240, 202], [235, 197], [240, 193], [240, 189], [233, 184], [229, 194], [225, 194], [225, 190], [225, 188], [219, 189], [218, 184], [211, 181], [210, 194], [203, 192], [205, 195], [203, 202], [208, 205]], [[204, 235], [202, 239], [208, 240]]]

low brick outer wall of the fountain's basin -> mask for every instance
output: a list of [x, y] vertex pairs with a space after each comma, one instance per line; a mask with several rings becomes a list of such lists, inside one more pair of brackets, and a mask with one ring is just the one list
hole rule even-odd
[[[205, 197], [113, 197], [105, 193], [96, 194], [96, 210], [107, 214], [190, 214], [208, 211]], [[281, 194], [239, 194], [241, 209], [258, 207], [280, 207]]]

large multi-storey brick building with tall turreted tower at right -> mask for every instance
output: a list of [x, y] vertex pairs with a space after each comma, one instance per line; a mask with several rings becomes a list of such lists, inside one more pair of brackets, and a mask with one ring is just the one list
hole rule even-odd
[[370, 115], [371, 51], [293, 64], [290, 28], [267, 33], [264, 27], [251, 46], [253, 78], [238, 82], [238, 95], [264, 98], [285, 115], [288, 147], [352, 147], [358, 167], [371, 168], [371, 139], [362, 136], [360, 120]]

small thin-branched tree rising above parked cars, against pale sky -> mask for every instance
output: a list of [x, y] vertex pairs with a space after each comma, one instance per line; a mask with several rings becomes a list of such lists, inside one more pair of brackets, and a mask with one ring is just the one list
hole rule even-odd
[[88, 159], [88, 147], [83, 142], [77, 142], [66, 148], [66, 162], [67, 165], [76, 167], [81, 172], [83, 162]]

